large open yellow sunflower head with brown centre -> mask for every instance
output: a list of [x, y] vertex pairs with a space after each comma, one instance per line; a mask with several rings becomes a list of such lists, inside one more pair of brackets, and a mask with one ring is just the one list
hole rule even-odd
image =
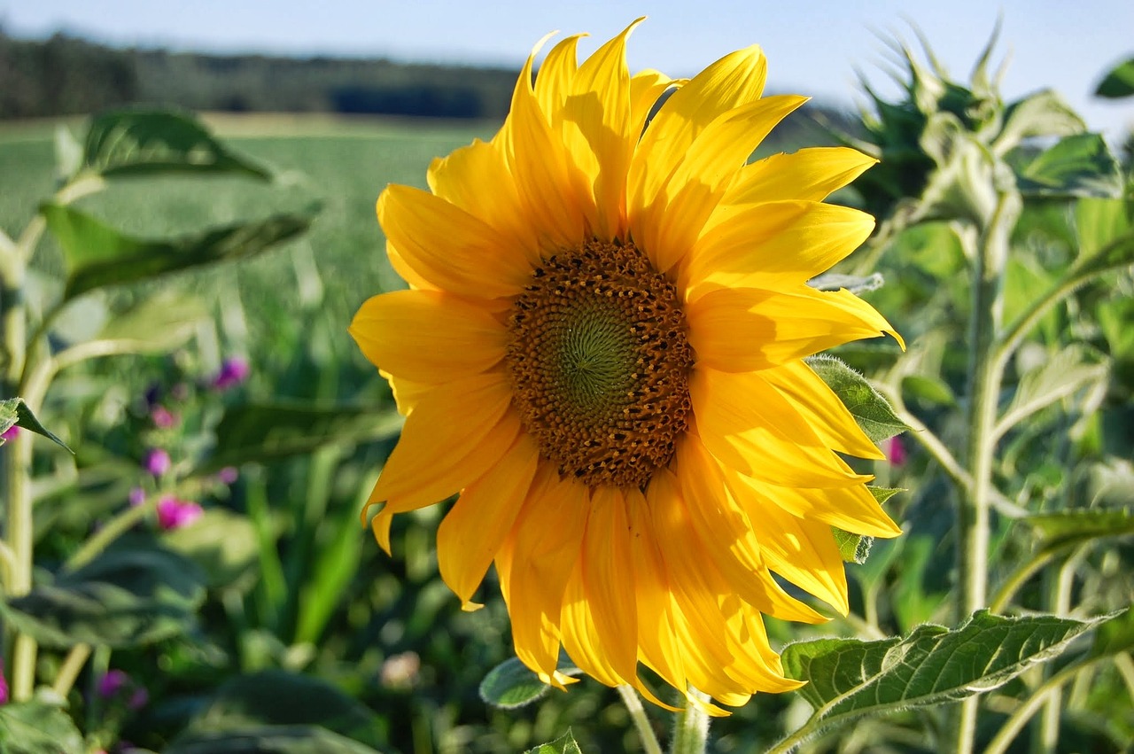
[[803, 361], [897, 333], [806, 285], [870, 235], [823, 200], [874, 160], [748, 163], [805, 99], [761, 96], [756, 46], [688, 81], [632, 76], [637, 23], [582, 65], [561, 41], [534, 84], [533, 51], [490, 142], [434, 160], [430, 190], [379, 197], [409, 289], [350, 333], [406, 421], [366, 508], [389, 552], [396, 514], [459, 493], [441, 576], [474, 609], [496, 565], [545, 683], [570, 680], [562, 647], [603, 684], [668, 706], [644, 666], [721, 714], [692, 689], [736, 706], [801, 685], [763, 616], [824, 620], [772, 574], [846, 613], [831, 527], [899, 533], [839, 456], [882, 454]]

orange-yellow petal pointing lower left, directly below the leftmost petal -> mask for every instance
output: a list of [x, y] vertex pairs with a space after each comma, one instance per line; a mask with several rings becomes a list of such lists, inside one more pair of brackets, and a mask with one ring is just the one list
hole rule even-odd
[[386, 501], [390, 512], [413, 510], [474, 482], [519, 432], [510, 404], [511, 389], [500, 373], [456, 380], [425, 393], [406, 417], [367, 505]]

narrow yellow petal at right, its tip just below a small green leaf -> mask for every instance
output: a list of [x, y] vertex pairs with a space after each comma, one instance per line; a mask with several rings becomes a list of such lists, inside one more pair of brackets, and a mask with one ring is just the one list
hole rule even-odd
[[860, 429], [846, 405], [806, 362], [788, 362], [763, 370], [760, 376], [792, 403], [802, 414], [802, 421], [828, 448], [860, 458], [886, 458]]

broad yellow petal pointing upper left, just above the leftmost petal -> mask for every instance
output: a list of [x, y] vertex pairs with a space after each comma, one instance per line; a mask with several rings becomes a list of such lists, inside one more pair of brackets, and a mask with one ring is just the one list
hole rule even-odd
[[523, 290], [532, 269], [525, 253], [460, 207], [409, 186], [387, 186], [378, 219], [406, 264], [445, 290], [473, 298]]

